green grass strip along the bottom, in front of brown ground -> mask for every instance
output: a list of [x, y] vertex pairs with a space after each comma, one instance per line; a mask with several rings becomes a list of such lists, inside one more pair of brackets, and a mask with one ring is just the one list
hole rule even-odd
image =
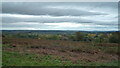
[[118, 61], [109, 63], [77, 61], [73, 63], [71, 60], [62, 60], [59, 56], [31, 53], [3, 52], [3, 56], [3, 66], [118, 66]]

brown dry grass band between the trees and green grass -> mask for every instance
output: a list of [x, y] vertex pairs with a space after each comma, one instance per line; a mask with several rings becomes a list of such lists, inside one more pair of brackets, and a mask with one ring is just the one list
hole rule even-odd
[[[3, 50], [29, 52], [44, 55], [61, 56], [62, 60], [69, 59], [74, 63], [76, 61], [85, 62], [110, 62], [118, 60], [117, 53], [114, 49], [118, 44], [102, 43], [95, 46], [91, 43], [64, 40], [39, 40], [39, 39], [20, 39], [20, 38], [3, 38]], [[109, 46], [110, 45], [110, 46]], [[103, 49], [106, 49], [106, 51]], [[113, 53], [108, 53], [111, 51]], [[116, 52], [116, 51], [115, 51]]]

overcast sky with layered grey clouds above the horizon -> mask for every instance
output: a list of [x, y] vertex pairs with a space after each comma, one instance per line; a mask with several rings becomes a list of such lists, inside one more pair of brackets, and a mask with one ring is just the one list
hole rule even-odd
[[118, 31], [117, 2], [3, 2], [2, 30]]

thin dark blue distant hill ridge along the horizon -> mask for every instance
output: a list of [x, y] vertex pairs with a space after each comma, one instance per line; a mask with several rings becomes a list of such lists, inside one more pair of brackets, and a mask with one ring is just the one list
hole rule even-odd
[[75, 30], [2, 30], [2, 33], [40, 33], [40, 34], [73, 34], [75, 32], [84, 33], [111, 33], [118, 31], [75, 31]]

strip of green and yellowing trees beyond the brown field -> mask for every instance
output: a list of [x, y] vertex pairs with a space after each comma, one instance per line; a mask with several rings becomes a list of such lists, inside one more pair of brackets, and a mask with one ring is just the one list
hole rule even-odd
[[37, 34], [37, 33], [15, 33], [2, 34], [2, 37], [11, 38], [32, 38], [43, 40], [71, 40], [71, 41], [85, 41], [96, 43], [119, 43], [120, 32], [111, 33], [84, 33], [75, 32], [74, 34]]

